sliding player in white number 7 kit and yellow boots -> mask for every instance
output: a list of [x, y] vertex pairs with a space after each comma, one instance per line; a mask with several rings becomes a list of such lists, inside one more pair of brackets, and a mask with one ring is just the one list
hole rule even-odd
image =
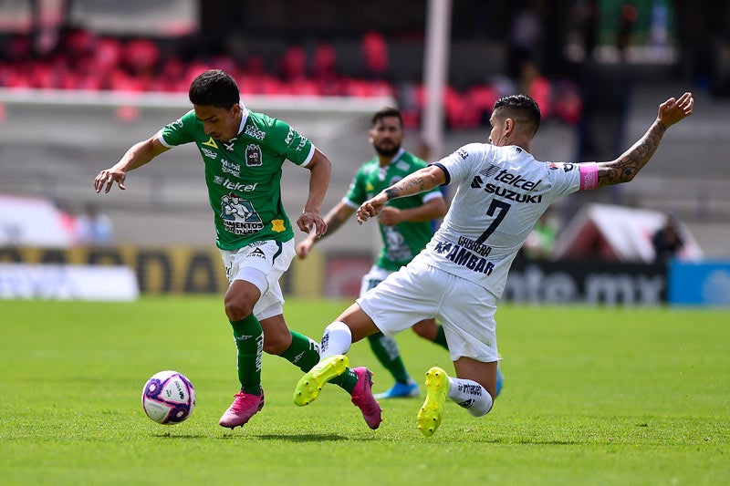
[[659, 106], [646, 133], [605, 162], [549, 163], [532, 155], [540, 125], [537, 103], [525, 95], [500, 98], [490, 118], [489, 143], [470, 143], [381, 191], [358, 209], [358, 221], [387, 202], [456, 184], [451, 207], [426, 249], [359, 298], [325, 329], [317, 366], [299, 379], [295, 402], [311, 403], [331, 377], [348, 366], [353, 342], [375, 332], [392, 336], [424, 318], [443, 323], [455, 377], [441, 367], [426, 372], [418, 428], [431, 436], [451, 398], [474, 417], [492, 408], [496, 390], [496, 304], [516, 253], [551, 202], [574, 191], [631, 181], [652, 158], [669, 127], [692, 114], [684, 93]]

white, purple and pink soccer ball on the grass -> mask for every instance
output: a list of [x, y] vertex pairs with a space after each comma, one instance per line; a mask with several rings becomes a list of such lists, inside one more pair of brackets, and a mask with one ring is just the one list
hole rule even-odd
[[195, 388], [183, 373], [172, 369], [155, 373], [142, 389], [142, 408], [159, 424], [183, 422], [195, 409]]

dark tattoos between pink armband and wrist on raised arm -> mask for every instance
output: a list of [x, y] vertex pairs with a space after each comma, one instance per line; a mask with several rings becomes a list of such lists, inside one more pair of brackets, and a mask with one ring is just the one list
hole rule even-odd
[[662, 141], [666, 127], [655, 122], [643, 137], [626, 150], [617, 160], [599, 164], [599, 187], [631, 181], [646, 165]]

